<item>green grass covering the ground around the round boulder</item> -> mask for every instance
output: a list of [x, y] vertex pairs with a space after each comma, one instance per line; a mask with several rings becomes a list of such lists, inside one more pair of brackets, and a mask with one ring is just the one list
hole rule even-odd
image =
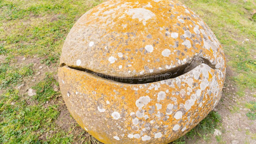
[[[63, 100], [54, 91], [56, 68], [62, 44], [76, 20], [100, 4], [100, 0], [0, 0], [0, 143], [97, 143], [85, 131], [68, 129], [56, 121]], [[226, 77], [243, 97], [245, 90], [256, 89], [256, 9], [255, 1], [181, 0], [196, 12], [216, 34], [234, 72]], [[18, 56], [34, 61], [19, 62]], [[39, 70], [44, 65], [44, 70]], [[41, 71], [40, 75], [37, 72]], [[35, 82], [31, 82], [36, 79]], [[36, 90], [29, 97], [26, 88]], [[254, 97], [255, 94], [254, 94]], [[221, 99], [221, 101], [225, 101]], [[48, 103], [47, 103], [48, 102]], [[240, 103], [243, 105], [243, 103]], [[255, 119], [255, 101], [244, 105]], [[239, 112], [234, 106], [231, 113]], [[68, 116], [69, 117], [69, 116]], [[69, 117], [70, 118], [70, 117]], [[221, 118], [211, 112], [200, 124], [173, 143], [201, 138], [210, 141], [214, 128], [221, 129]], [[256, 139], [255, 134], [249, 134]], [[221, 136], [215, 137], [223, 143]]]

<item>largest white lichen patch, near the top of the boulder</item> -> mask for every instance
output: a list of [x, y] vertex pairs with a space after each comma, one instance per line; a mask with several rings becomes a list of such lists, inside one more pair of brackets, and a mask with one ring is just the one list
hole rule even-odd
[[146, 25], [146, 21], [148, 19], [151, 19], [152, 17], [155, 17], [156, 15], [145, 9], [145, 8], [133, 8], [126, 11], [128, 15], [132, 16], [132, 19], [139, 19], [139, 21], [142, 21], [143, 25]]

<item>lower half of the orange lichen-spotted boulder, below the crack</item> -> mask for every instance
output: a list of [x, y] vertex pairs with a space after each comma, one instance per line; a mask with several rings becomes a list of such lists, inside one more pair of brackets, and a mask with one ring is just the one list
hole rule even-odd
[[218, 103], [224, 72], [201, 64], [176, 78], [124, 84], [59, 68], [60, 90], [77, 123], [103, 143], [169, 143]]

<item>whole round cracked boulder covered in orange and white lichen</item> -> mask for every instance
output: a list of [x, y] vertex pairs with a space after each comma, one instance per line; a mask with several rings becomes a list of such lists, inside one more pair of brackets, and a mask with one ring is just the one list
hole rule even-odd
[[212, 30], [176, 0], [110, 0], [63, 45], [59, 82], [77, 123], [103, 143], [169, 143], [216, 106], [225, 58]]

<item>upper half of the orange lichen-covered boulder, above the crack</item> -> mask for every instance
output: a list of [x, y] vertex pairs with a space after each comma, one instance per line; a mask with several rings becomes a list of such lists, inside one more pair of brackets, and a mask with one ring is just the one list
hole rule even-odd
[[207, 59], [225, 71], [212, 30], [176, 0], [110, 0], [86, 12], [71, 28], [60, 64], [110, 76], [148, 76]]

